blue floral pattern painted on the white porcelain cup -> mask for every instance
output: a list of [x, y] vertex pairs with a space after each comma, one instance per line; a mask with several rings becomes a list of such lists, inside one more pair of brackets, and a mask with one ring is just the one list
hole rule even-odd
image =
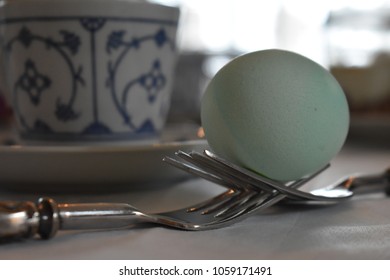
[[[64, 22], [63, 28], [50, 34], [40, 32], [39, 24], [47, 23], [45, 18], [20, 18], [0, 23], [12, 25], [15, 30], [13, 36], [8, 34], [2, 40], [6, 57], [12, 57], [13, 52], [31, 52], [31, 56], [26, 55], [22, 71], [10, 77], [14, 112], [25, 137], [70, 137], [80, 140], [84, 137], [93, 138], [94, 135], [107, 135], [128, 138], [158, 131], [159, 124], [155, 124], [153, 118], [145, 118], [142, 122], [134, 121], [136, 106], [129, 104], [133, 102], [130, 99], [141, 91], [151, 106], [159, 95], [170, 94], [166, 91], [168, 83], [172, 83], [169, 72], [172, 66], [166, 64], [172, 63], [172, 58], [165, 57], [167, 53], [172, 56], [175, 52], [173, 30], [177, 22], [104, 17], [58, 17], [50, 20]], [[118, 22], [121, 24], [117, 24]], [[132, 28], [127, 29], [126, 24], [147, 25], [148, 28], [141, 34], [140, 31], [133, 32]], [[76, 25], [79, 27], [75, 28]], [[145, 56], [147, 51], [143, 53], [143, 49], [153, 49], [152, 53], [155, 55], [145, 58], [149, 61], [147, 68], [125, 73], [126, 65], [137, 64], [137, 56]], [[43, 55], [45, 53], [48, 54], [47, 58]], [[80, 53], [88, 53], [88, 61], [81, 59]], [[50, 60], [53, 58], [56, 61]], [[12, 63], [12, 59], [8, 61], [9, 65]], [[48, 71], [47, 63], [54, 67], [62, 66], [62, 77], [54, 77]], [[98, 70], [102, 67], [105, 69], [104, 77], [99, 74], [101, 70]], [[126, 76], [125, 82], [123, 76]], [[68, 90], [66, 94], [56, 95], [58, 86], [55, 85], [63, 81], [68, 81]], [[91, 109], [83, 110], [83, 106], [78, 105], [79, 102], [89, 102]], [[112, 103], [118, 115], [118, 121], [114, 125], [102, 113], [101, 106], [106, 102]], [[169, 104], [160, 103], [158, 111], [165, 118]], [[34, 120], [29, 119], [26, 112], [39, 111], [40, 106], [45, 112], [48, 111], [48, 106], [52, 106], [48, 112], [53, 116], [41, 114]], [[86, 115], [89, 115], [88, 122], [85, 121]], [[56, 119], [55, 122], [62, 123], [64, 128], [57, 129], [56, 125], [52, 125], [53, 118]], [[71, 122], [80, 122], [78, 131], [66, 129], [66, 124]]]

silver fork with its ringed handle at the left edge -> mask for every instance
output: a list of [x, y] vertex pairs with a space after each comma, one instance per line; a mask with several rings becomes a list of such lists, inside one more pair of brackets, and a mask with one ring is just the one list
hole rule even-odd
[[[292, 184], [299, 187], [320, 170]], [[209, 179], [212, 178], [210, 175]], [[215, 182], [221, 183], [215, 178]], [[149, 222], [184, 230], [221, 228], [238, 221], [237, 209], [269, 203], [268, 192], [224, 182], [227, 190], [206, 201], [182, 209], [149, 214], [126, 203], [56, 203], [51, 198], [0, 202], [0, 241], [15, 238], [53, 237], [58, 230], [117, 229]], [[262, 202], [261, 202], [262, 201]], [[265, 207], [265, 206], [263, 206]], [[248, 214], [246, 214], [247, 216]]]

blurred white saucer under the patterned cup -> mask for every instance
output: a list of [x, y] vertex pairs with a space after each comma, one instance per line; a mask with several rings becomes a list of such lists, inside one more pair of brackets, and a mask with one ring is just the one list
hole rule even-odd
[[0, 185], [34, 192], [159, 186], [188, 176], [163, 162], [164, 156], [204, 149], [205, 140], [129, 146], [0, 146]]

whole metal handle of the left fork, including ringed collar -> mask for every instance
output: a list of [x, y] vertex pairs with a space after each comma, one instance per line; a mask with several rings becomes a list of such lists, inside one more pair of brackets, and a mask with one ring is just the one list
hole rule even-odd
[[51, 198], [0, 202], [0, 241], [14, 238], [53, 237], [59, 229], [114, 229], [142, 219], [125, 203], [57, 204]]

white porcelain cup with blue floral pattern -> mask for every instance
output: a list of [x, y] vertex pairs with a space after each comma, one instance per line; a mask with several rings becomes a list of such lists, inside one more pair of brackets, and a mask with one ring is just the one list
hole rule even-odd
[[177, 8], [130, 0], [5, 0], [0, 39], [20, 137], [140, 140], [165, 125]]

